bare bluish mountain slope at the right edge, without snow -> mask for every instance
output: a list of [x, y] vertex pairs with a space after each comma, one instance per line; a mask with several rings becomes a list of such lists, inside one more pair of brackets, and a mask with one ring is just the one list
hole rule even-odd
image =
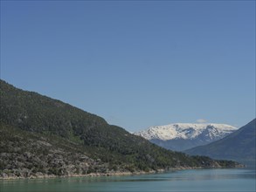
[[255, 166], [255, 125], [256, 120], [254, 119], [246, 126], [239, 128], [219, 141], [191, 148], [186, 150], [185, 153], [207, 155], [214, 159], [240, 161], [246, 164], [254, 164]]

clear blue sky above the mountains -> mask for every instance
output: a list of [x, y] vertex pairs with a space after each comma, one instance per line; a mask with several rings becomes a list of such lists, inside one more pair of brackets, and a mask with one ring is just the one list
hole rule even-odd
[[1, 79], [136, 132], [255, 118], [255, 1], [1, 0]]

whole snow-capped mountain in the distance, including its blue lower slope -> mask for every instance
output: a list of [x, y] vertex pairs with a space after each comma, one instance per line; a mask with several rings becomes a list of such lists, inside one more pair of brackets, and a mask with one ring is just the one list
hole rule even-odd
[[176, 123], [149, 127], [135, 135], [140, 135], [158, 146], [183, 151], [222, 139], [235, 130], [236, 127], [225, 124]]

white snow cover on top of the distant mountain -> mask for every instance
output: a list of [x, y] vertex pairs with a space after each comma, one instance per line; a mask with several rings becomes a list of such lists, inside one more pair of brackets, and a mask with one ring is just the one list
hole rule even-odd
[[205, 134], [204, 136], [214, 140], [218, 137], [222, 138], [226, 134], [231, 134], [235, 130], [237, 130], [236, 127], [225, 124], [175, 123], [166, 126], [149, 127], [135, 134], [147, 140], [158, 139], [163, 141], [175, 139], [190, 140], [197, 138], [200, 134]]

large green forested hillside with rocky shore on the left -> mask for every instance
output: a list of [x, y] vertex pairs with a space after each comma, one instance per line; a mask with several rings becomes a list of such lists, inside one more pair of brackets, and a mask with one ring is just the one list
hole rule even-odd
[[176, 153], [92, 113], [0, 80], [0, 178], [234, 167]]

